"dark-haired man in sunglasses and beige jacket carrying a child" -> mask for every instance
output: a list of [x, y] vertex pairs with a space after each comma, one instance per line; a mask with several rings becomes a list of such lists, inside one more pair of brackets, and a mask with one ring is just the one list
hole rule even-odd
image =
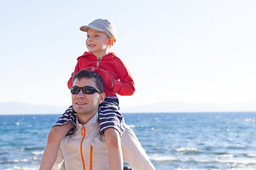
[[[73, 114], [78, 115], [77, 126], [75, 133], [60, 143], [53, 169], [109, 170], [108, 149], [99, 132], [97, 113], [99, 104], [105, 99], [103, 80], [95, 72], [82, 70], [75, 74], [70, 91]], [[133, 143], [127, 139], [132, 139]], [[155, 169], [128, 126], [121, 137], [121, 145], [124, 161], [131, 164], [133, 170]]]

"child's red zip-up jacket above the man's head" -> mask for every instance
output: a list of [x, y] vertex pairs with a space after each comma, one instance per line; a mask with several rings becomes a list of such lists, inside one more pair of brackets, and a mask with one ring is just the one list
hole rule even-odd
[[[82, 69], [92, 70], [100, 74], [105, 83], [106, 96], [131, 96], [134, 94], [134, 81], [131, 74], [124, 63], [113, 53], [110, 52], [101, 59], [97, 58], [90, 52], [85, 52], [78, 57], [78, 64], [75, 66], [75, 72], [78, 73]], [[68, 81], [68, 88], [73, 84], [73, 74]], [[114, 89], [112, 88], [114, 81]]]

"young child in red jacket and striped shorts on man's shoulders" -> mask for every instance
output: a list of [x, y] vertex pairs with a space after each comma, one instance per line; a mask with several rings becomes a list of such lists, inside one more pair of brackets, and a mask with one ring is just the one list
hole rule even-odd
[[[73, 75], [81, 69], [88, 69], [100, 74], [105, 83], [105, 101], [100, 104], [99, 119], [100, 133], [105, 135], [105, 142], [109, 152], [111, 170], [123, 169], [123, 156], [120, 136], [125, 130], [124, 118], [119, 113], [117, 94], [130, 96], [134, 94], [134, 81], [124, 63], [113, 53], [108, 52], [117, 40], [114, 25], [105, 19], [92, 21], [88, 26], [80, 27], [87, 32], [86, 47], [89, 52], [78, 57], [72, 77], [68, 81], [68, 88], [73, 84]], [[81, 103], [82, 104], [82, 103]], [[48, 135], [48, 142], [41, 161], [41, 170], [51, 169], [58, 154], [58, 146], [65, 135], [72, 135], [75, 128], [76, 115], [70, 106], [59, 118]]]

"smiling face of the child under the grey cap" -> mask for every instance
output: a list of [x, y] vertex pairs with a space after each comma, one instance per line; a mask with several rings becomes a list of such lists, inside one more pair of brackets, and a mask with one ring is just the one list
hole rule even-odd
[[101, 31], [88, 28], [86, 47], [90, 52], [107, 52], [110, 46], [110, 37]]

